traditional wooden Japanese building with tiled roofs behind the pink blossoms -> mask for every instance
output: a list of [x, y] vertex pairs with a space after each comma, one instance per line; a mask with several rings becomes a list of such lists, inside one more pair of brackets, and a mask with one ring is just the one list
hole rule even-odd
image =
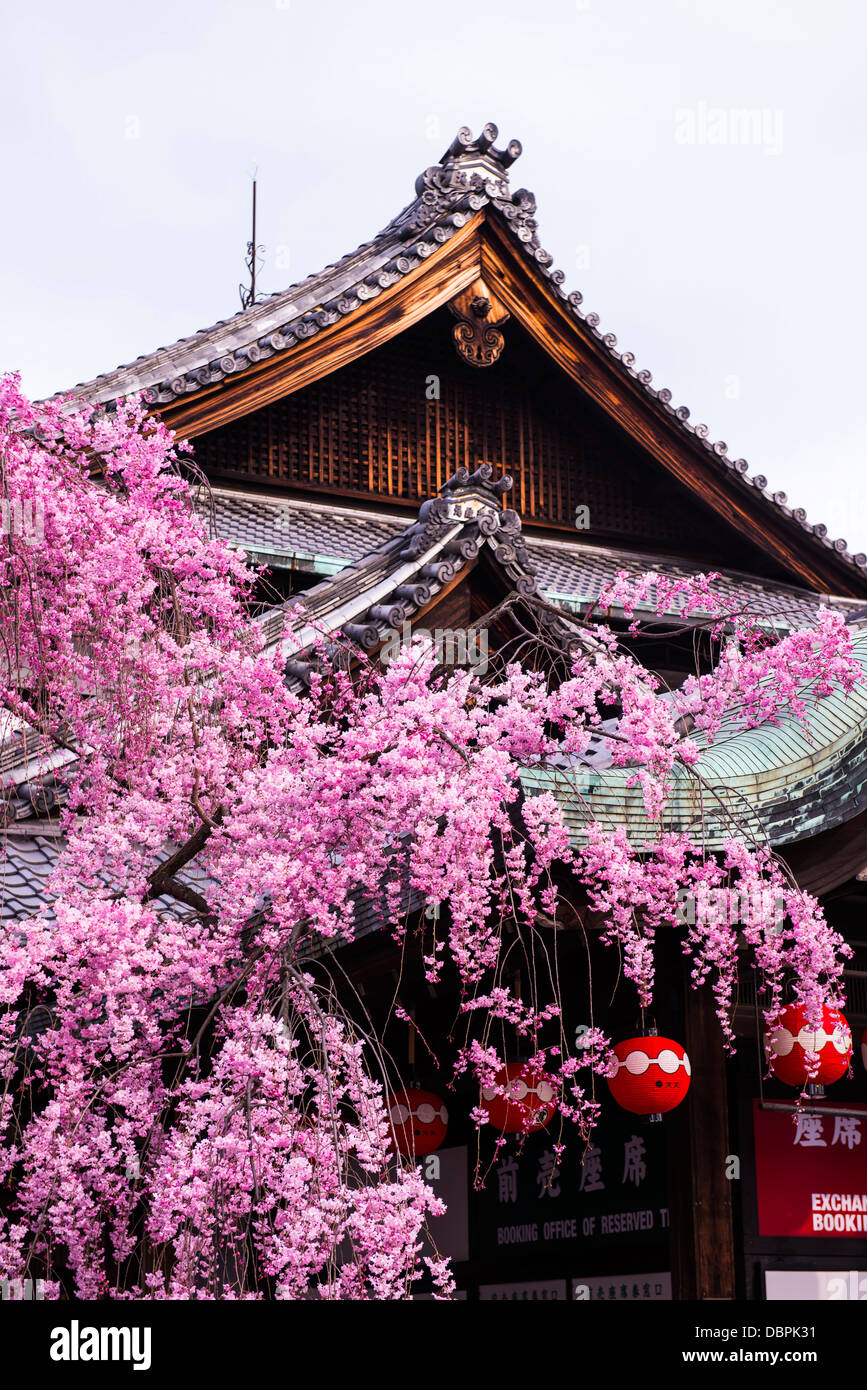
[[[485, 627], [518, 595], [547, 600], [556, 632], [556, 610], [584, 614], [618, 571], [649, 569], [713, 569], [732, 607], [777, 632], [834, 605], [867, 670], [867, 556], [849, 553], [743, 459], [729, 459], [602, 331], [543, 249], [532, 193], [511, 186], [520, 143], [496, 140], [493, 125], [479, 136], [461, 129], [370, 242], [75, 395], [110, 406], [143, 391], [192, 441], [217, 534], [267, 566], [263, 602], [303, 598], [310, 630], [286, 669], [299, 688], [322, 631], [377, 653], [403, 624]], [[263, 621], [274, 623], [267, 612]], [[495, 651], [510, 641], [509, 620], [497, 621], [485, 627]], [[670, 685], [695, 670], [679, 614], [636, 651]], [[482, 1155], [479, 1168], [467, 1119], [475, 1101], [447, 1093], [449, 1134], [431, 1176], [449, 1201], [438, 1241], [465, 1297], [836, 1297], [834, 1280], [849, 1280], [839, 1297], [857, 1295], [856, 1286], [867, 1297], [867, 1234], [810, 1226], [811, 1194], [867, 1194], [867, 1077], [857, 1055], [867, 1024], [866, 714], [867, 695], [856, 689], [821, 701], [809, 737], [785, 719], [748, 733], [732, 724], [700, 763], [720, 806], [742, 819], [746, 808], [752, 833], [770, 840], [854, 949], [853, 1074], [795, 1125], [791, 1093], [763, 1080], [761, 1001], [749, 972], [738, 1052], [727, 1058], [711, 991], [689, 988], [671, 933], [660, 942], [656, 1015], [661, 1033], [684, 1040], [692, 1087], [663, 1125], [643, 1126], [604, 1099], [592, 1151], [567, 1154], [552, 1180], [545, 1133], [497, 1165], [485, 1168]], [[3, 759], [3, 912], [15, 916], [40, 901], [60, 791], [14, 749]], [[600, 745], [570, 771], [570, 806], [591, 805], [639, 842], [643, 805], [627, 780]], [[550, 774], [531, 769], [527, 783], [561, 794]], [[586, 815], [570, 810], [577, 844]], [[695, 815], [685, 780], [671, 828], [688, 830]], [[706, 826], [711, 844], [724, 831], [722, 813]], [[410, 908], [424, 912], [421, 902]], [[561, 938], [574, 1031], [589, 1020], [588, 947], [579, 931]], [[618, 983], [614, 952], [593, 941], [589, 951], [604, 1001], [597, 1022], [624, 1036], [635, 1023], [634, 990]], [[396, 955], [364, 923], [345, 948], [383, 1026]], [[408, 962], [402, 990], [425, 1036], [447, 1029], [447, 987], [427, 988]], [[395, 1026], [388, 1038], [406, 1055], [406, 1030]], [[410, 1061], [421, 1084], [443, 1090], [421, 1056]]]

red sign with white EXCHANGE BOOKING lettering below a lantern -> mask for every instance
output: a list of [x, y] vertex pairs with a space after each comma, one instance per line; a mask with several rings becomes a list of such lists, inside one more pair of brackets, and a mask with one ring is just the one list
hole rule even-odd
[[867, 1112], [792, 1115], [753, 1101], [761, 1236], [867, 1240]]

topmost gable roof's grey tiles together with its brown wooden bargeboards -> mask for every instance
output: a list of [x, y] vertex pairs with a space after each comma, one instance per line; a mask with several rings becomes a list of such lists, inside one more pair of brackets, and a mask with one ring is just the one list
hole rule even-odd
[[[614, 334], [600, 331], [599, 316], [584, 310], [582, 296], [565, 289], [564, 272], [539, 242], [534, 195], [510, 189], [521, 145], [497, 149], [496, 139], [492, 124], [478, 138], [461, 128], [439, 164], [417, 179], [413, 202], [372, 240], [228, 320], [79, 384], [74, 396], [108, 403], [143, 391], [170, 425], [195, 438], [379, 346], [484, 275], [506, 316], [731, 525], [813, 587], [867, 595], [867, 555], [850, 555], [784, 492], [770, 493], [746, 460], [731, 460], [727, 445], [711, 441], [704, 424], [691, 424], [689, 410], [672, 406], [671, 392], [654, 388]], [[529, 304], [529, 282], [545, 316]], [[314, 341], [320, 346], [308, 350]]]

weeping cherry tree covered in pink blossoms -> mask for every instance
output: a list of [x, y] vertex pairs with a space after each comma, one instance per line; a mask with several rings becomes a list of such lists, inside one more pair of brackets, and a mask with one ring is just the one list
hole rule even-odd
[[[417, 930], [407, 887], [439, 906], [424, 963], [460, 980], [452, 1079], [492, 1084], [509, 1027], [578, 1141], [609, 1040], [574, 1055], [554, 976], [522, 998], [504, 977], [504, 924], [524, 945], [540, 915], [556, 924], [564, 878], [604, 913], [642, 1006], [678, 894], [721, 885], [785, 901], [782, 930], [699, 913], [685, 933], [729, 1042], [739, 940], [768, 1017], [786, 979], [811, 1019], [841, 1001], [848, 948], [767, 845], [732, 824], [711, 853], [664, 828], [674, 770], [700, 777], [688, 727], [713, 739], [852, 689], [839, 613], [768, 645], [713, 577], [621, 577], [600, 609], [703, 606], [711, 671], [663, 698], [610, 627], [575, 619], [556, 680], [520, 660], [443, 677], [411, 646], [382, 670], [322, 663], [299, 696], [297, 614], [265, 645], [249, 569], [142, 403], [35, 407], [7, 378], [0, 456], [4, 516], [38, 518], [0, 550], [4, 734], [36, 741], [67, 791], [46, 906], [0, 937], [1, 1276], [90, 1300], [403, 1298], [420, 1279], [449, 1295], [421, 1241], [440, 1204], [395, 1152], [390, 1063], [310, 965], [360, 901], [399, 940]], [[527, 619], [535, 600], [515, 602]], [[577, 848], [560, 798], [524, 791], [528, 766], [579, 766], [593, 738], [641, 787], [657, 827], [641, 845], [589, 820]]]

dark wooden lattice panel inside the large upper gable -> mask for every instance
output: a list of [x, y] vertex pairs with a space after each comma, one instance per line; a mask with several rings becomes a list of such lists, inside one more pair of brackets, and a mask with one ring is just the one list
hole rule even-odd
[[[524, 524], [568, 528], [589, 507], [593, 538], [652, 550], [720, 552], [720, 523], [510, 322], [490, 367], [464, 364], [446, 310], [275, 404], [196, 441], [213, 478], [288, 492], [418, 503], [459, 466], [514, 478]], [[431, 377], [439, 399], [427, 399]], [[725, 535], [729, 564], [754, 552]], [[752, 564], [748, 560], [752, 559]]]

